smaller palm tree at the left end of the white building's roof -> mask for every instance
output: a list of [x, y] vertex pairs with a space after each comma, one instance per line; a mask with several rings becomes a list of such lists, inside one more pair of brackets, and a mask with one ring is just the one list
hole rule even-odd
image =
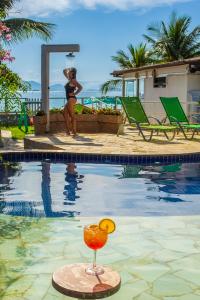
[[[141, 43], [138, 47], [134, 47], [132, 44], [128, 45], [129, 53], [126, 54], [123, 50], [119, 50], [117, 55], [112, 56], [112, 60], [115, 61], [121, 69], [138, 68], [144, 65], [154, 62], [153, 53], [147, 50], [147, 45]], [[139, 96], [140, 81], [137, 81], [137, 96]], [[122, 86], [122, 80], [108, 80], [101, 86], [102, 94], [107, 94], [108, 91], [115, 90]]]

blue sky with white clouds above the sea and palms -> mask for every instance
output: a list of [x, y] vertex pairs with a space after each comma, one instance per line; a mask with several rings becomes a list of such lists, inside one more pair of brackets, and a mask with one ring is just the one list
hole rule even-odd
[[[111, 56], [129, 43], [137, 46], [147, 26], [168, 21], [172, 11], [191, 16], [192, 27], [200, 23], [199, 0], [21, 0], [10, 16], [56, 24], [49, 44], [80, 44], [73, 61], [65, 53], [51, 55], [51, 84], [64, 84], [63, 68], [75, 66], [85, 88], [97, 88], [119, 69]], [[24, 80], [40, 82], [43, 43], [32, 38], [10, 47], [16, 58], [10, 67]]]

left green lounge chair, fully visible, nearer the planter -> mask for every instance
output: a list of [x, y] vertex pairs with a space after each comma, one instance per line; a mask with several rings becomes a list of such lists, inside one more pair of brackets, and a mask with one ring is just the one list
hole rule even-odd
[[[163, 125], [158, 119], [147, 117], [138, 97], [120, 97], [120, 100], [129, 124], [136, 126], [145, 141], [151, 141], [154, 134], [158, 135], [160, 132], [162, 132], [169, 141], [174, 139], [177, 127]], [[149, 119], [155, 120], [158, 125], [150, 124]], [[150, 131], [150, 136], [146, 136], [144, 131]], [[168, 135], [168, 132], [172, 133], [171, 137]]]

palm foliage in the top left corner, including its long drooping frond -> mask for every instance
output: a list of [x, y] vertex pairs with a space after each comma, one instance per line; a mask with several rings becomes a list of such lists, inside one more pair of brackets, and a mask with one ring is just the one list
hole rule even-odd
[[[18, 0], [1, 0], [0, 1], [0, 19], [3, 23], [11, 29], [12, 41], [18, 42], [28, 39], [34, 35], [48, 40], [52, 37], [54, 24], [37, 22], [26, 18], [8, 18], [9, 11], [13, 8], [15, 2]], [[5, 43], [10, 43], [4, 39]]]

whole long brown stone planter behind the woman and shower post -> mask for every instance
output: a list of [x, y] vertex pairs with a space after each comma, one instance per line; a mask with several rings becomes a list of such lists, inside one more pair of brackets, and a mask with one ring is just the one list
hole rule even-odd
[[[76, 127], [79, 133], [114, 133], [117, 134], [120, 124], [123, 123], [122, 116], [116, 115], [75, 115]], [[34, 127], [35, 134], [45, 134], [46, 116], [35, 116]], [[62, 113], [50, 114], [50, 133], [58, 133], [66, 131], [66, 122]]]

